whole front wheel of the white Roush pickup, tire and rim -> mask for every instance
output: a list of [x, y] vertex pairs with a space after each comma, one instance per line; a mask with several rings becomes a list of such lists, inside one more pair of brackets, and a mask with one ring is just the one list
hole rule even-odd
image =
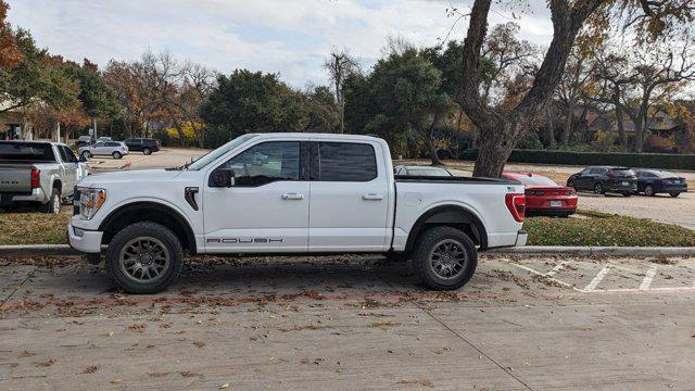
[[122, 229], [106, 250], [109, 276], [128, 293], [156, 293], [181, 272], [184, 250], [176, 235], [151, 222]]

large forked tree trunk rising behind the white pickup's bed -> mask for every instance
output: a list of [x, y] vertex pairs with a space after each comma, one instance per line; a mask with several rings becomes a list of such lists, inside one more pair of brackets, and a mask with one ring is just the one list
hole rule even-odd
[[[670, 4], [692, 3], [692, 0], [652, 1], [652, 0], [548, 0], [551, 20], [553, 22], [553, 40], [547, 48], [532, 87], [511, 108], [492, 108], [480, 93], [481, 85], [481, 49], [488, 31], [488, 16], [492, 0], [475, 0], [469, 14], [469, 24], [464, 40], [462, 88], [464, 99], [460, 105], [470, 121], [478, 126], [482, 135], [480, 152], [473, 168], [475, 176], [498, 177], [506, 160], [511, 154], [516, 143], [533, 126], [535, 119], [543, 112], [548, 99], [555, 92], [565, 71], [574, 40], [579, 31], [585, 26], [592, 15], [603, 16], [603, 21], [610, 22], [612, 12], [623, 14], [636, 9], [648, 9], [640, 12], [646, 14], [644, 20], [634, 22], [631, 26], [653, 27], [643, 34], [650, 38], [658, 36], [673, 27], [675, 23], [670, 12]], [[601, 8], [602, 5], [605, 5]], [[601, 8], [601, 11], [597, 12]], [[681, 20], [692, 21], [691, 8], [679, 9], [677, 15]], [[637, 14], [637, 11], [634, 13]], [[599, 18], [599, 17], [597, 17]], [[652, 24], [652, 22], [655, 21]], [[598, 30], [602, 24], [593, 24]], [[677, 27], [671, 28], [673, 30]]]

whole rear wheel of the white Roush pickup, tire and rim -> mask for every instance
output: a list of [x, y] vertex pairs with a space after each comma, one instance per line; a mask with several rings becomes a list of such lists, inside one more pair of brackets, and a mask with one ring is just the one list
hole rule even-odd
[[472, 240], [452, 227], [434, 227], [420, 235], [413, 251], [413, 269], [430, 289], [453, 290], [466, 285], [478, 265]]

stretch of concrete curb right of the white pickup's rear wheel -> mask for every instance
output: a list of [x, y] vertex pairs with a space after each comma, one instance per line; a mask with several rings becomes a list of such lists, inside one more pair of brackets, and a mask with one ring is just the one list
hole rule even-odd
[[695, 247], [564, 247], [527, 245], [494, 249], [488, 253], [509, 255], [606, 255], [606, 256], [695, 256]]

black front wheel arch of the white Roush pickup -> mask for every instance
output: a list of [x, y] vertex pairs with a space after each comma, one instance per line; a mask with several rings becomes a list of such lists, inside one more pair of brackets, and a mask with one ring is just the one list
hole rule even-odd
[[99, 225], [104, 232], [102, 244], [109, 244], [124, 227], [139, 222], [159, 223], [169, 228], [181, 241], [184, 249], [197, 252], [195, 235], [189, 222], [175, 209], [152, 201], [136, 201], [118, 206]]

